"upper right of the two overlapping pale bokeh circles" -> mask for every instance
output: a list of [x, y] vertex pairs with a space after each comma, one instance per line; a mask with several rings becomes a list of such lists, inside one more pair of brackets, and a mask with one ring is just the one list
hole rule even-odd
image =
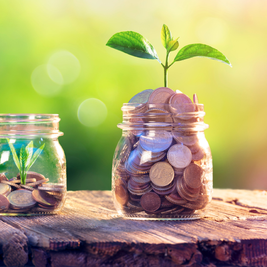
[[[64, 84], [75, 81], [80, 74], [79, 60], [68, 51], [55, 53], [49, 59], [48, 64], [56, 67], [60, 71]], [[59, 77], [55, 72], [51, 71], [51, 68], [48, 68], [48, 74], [54, 82], [58, 83]]]

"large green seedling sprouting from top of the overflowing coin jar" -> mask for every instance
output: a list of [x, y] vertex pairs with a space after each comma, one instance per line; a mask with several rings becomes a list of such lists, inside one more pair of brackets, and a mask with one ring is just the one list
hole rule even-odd
[[[179, 38], [179, 37], [178, 37]], [[164, 68], [164, 86], [167, 87], [167, 71], [177, 61], [182, 61], [194, 57], [209, 58], [228, 64], [232, 67], [227, 57], [210, 46], [202, 43], [188, 44], [183, 47], [174, 58], [173, 62], [168, 65], [169, 54], [179, 47], [178, 38], [173, 39], [169, 28], [163, 24], [161, 29], [161, 42], [166, 49], [165, 65], [161, 63], [157, 52], [152, 44], [141, 34], [134, 31], [122, 31], [115, 33], [107, 42], [106, 46], [117, 49], [121, 52], [134, 57], [144, 59], [156, 59]]]

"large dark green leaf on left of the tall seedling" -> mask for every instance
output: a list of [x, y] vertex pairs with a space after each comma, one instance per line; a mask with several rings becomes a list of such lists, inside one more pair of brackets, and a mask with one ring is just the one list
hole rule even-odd
[[144, 36], [134, 31], [122, 31], [115, 33], [108, 40], [106, 46], [134, 57], [156, 59], [159, 63], [161, 63], [152, 44]]

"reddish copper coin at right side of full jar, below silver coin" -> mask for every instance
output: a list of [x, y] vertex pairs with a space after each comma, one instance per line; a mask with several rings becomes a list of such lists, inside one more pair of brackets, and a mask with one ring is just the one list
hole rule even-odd
[[186, 184], [192, 188], [200, 187], [203, 179], [202, 172], [203, 170], [199, 165], [195, 163], [189, 164], [184, 172]]

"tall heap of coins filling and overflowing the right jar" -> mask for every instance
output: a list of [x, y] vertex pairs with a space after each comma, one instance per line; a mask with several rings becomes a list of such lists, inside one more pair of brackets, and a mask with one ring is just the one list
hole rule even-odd
[[[180, 91], [167, 87], [145, 90], [129, 103], [131, 114], [183, 113], [198, 111], [196, 94], [193, 103]], [[162, 107], [159, 104], [164, 104]], [[150, 108], [155, 104], [156, 108]], [[169, 104], [169, 105], [166, 105]], [[181, 110], [177, 110], [181, 109]], [[172, 122], [175, 118], [156, 117], [153, 122]], [[183, 119], [183, 118], [182, 118]], [[138, 122], [149, 119], [133, 119]], [[144, 121], [145, 120], [145, 121]], [[149, 215], [191, 215], [211, 201], [203, 182], [201, 159], [205, 150], [195, 131], [138, 131], [129, 130], [117, 156], [114, 176], [114, 195], [117, 207], [126, 213]], [[145, 212], [145, 213], [144, 213]]]

